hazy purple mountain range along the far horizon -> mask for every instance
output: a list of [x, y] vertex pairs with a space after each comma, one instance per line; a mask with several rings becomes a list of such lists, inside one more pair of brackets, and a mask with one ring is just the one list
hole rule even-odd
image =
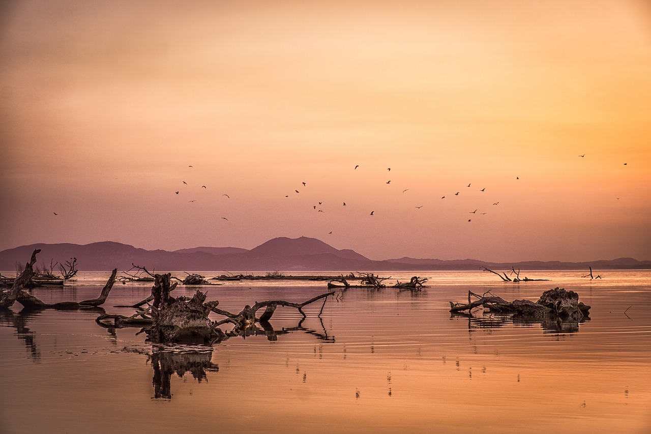
[[[104, 241], [91, 244], [30, 244], [0, 252], [0, 270], [14, 270], [25, 264], [33, 250], [40, 249], [37, 264], [50, 265], [77, 258], [81, 271], [104, 271], [118, 268], [128, 270], [132, 264], [158, 271], [381, 271], [381, 270], [587, 270], [651, 268], [651, 261], [630, 257], [591, 262], [526, 261], [492, 263], [477, 259], [415, 259], [401, 257], [374, 261], [353, 250], [338, 250], [325, 242], [300, 237], [271, 239], [251, 250], [235, 247], [196, 247], [174, 250], [145, 250], [119, 242]], [[56, 267], [55, 267], [56, 269]]]

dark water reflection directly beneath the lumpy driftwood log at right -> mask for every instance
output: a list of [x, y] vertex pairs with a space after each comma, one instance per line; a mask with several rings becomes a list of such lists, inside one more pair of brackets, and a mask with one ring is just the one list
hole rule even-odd
[[514, 315], [497, 315], [495, 313], [450, 313], [450, 319], [458, 317], [465, 317], [468, 319], [468, 330], [477, 328], [493, 329], [501, 328], [506, 325], [516, 325], [521, 327], [532, 327], [539, 324], [544, 334], [564, 334], [576, 333], [579, 331], [579, 324], [585, 323], [589, 317], [581, 319], [572, 319], [570, 317], [561, 319], [559, 318], [536, 318], [536, 317], [522, 317]]

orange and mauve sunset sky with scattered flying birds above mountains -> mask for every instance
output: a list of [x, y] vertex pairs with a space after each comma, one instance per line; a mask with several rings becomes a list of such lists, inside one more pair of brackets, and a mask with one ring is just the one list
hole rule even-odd
[[647, 1], [4, 1], [0, 59], [0, 250], [651, 259]]

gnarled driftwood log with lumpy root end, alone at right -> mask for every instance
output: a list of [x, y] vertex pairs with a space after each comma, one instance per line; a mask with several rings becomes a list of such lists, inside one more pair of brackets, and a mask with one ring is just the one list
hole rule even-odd
[[[471, 301], [471, 296], [477, 300]], [[472, 310], [478, 306], [488, 308], [493, 312], [516, 314], [522, 317], [549, 317], [580, 319], [589, 317], [590, 306], [579, 302], [579, 295], [574, 291], [564, 289], [550, 289], [542, 293], [537, 302], [530, 300], [514, 300], [507, 302], [501, 297], [493, 295], [486, 297], [468, 291], [468, 303], [460, 304], [450, 302], [450, 312]]]

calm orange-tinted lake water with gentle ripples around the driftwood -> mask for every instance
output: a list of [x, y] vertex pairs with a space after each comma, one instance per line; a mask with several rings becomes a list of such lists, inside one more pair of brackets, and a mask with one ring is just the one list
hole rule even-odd
[[[392, 283], [429, 277], [430, 287], [349, 289], [327, 299], [321, 319], [321, 302], [306, 308], [302, 322], [279, 308], [273, 331], [212, 347], [153, 346], [138, 328], [96, 325], [96, 311], [21, 313], [15, 304], [0, 311], [0, 433], [651, 432], [649, 270], [592, 281], [583, 271], [527, 272], [551, 282], [519, 284], [484, 272], [380, 274]], [[108, 276], [85, 273], [33, 294], [94, 298]], [[468, 290], [537, 300], [557, 286], [592, 306], [589, 321], [449, 313]], [[326, 282], [296, 281], [202, 290], [230, 311], [327, 292]], [[117, 283], [103, 307], [131, 315], [113, 306], [149, 292], [150, 284]]]

